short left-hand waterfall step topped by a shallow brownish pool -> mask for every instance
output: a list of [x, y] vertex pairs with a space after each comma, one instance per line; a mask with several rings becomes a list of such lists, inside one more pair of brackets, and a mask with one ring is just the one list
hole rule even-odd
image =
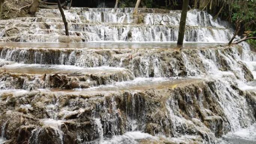
[[89, 88], [134, 79], [125, 68], [71, 65], [7, 64], [0, 73], [0, 89]]

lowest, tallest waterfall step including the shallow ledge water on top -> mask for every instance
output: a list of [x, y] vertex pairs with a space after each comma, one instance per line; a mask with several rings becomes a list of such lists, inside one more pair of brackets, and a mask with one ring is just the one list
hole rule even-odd
[[[1, 121], [0, 125], [8, 125], [3, 131], [9, 132], [13, 139], [16, 133], [10, 125], [28, 132], [33, 130], [31, 141], [49, 137], [51, 132], [51, 141], [74, 143], [76, 138], [82, 138], [81, 143], [96, 144], [112, 137], [125, 136], [126, 132], [141, 131], [147, 135], [168, 137], [149, 135], [149, 139], [141, 138], [141, 144], [148, 143], [151, 138], [158, 143], [164, 141], [164, 144], [173, 143], [176, 137], [188, 135], [188, 132], [189, 139], [184, 141], [214, 142], [217, 136], [226, 134], [235, 126], [250, 126], [255, 122], [255, 93], [243, 91], [245, 98], [235, 88], [218, 80], [135, 79], [123, 85], [107, 85], [106, 88], [110, 89], [103, 86], [86, 91], [3, 90], [0, 92], [0, 105], [6, 107], [1, 107], [5, 113], [0, 119], [12, 117], [12, 120]], [[9, 107], [14, 110], [9, 110]], [[225, 107], [233, 109], [232, 116], [228, 115]], [[20, 124], [21, 117], [26, 121], [26, 127]], [[36, 125], [38, 123], [40, 126]], [[157, 131], [154, 129], [156, 126]], [[124, 138], [124, 144], [129, 141]]]

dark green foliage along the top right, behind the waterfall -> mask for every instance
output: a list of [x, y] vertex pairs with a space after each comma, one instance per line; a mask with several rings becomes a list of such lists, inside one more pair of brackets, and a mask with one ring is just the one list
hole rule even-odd
[[[120, 0], [121, 7], [135, 7], [137, 0]], [[183, 0], [141, 0], [140, 7], [181, 9]], [[256, 36], [256, 0], [191, 0], [189, 6], [207, 10], [213, 16], [219, 16], [231, 24], [241, 24], [240, 35], [252, 31], [250, 36]], [[247, 40], [256, 46], [256, 40]]]

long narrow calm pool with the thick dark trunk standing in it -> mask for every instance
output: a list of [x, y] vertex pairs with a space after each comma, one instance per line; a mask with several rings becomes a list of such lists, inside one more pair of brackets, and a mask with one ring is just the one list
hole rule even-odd
[[[183, 48], [209, 48], [226, 43], [185, 42]], [[0, 46], [19, 48], [177, 48], [176, 42], [79, 42], [79, 43], [39, 43], [39, 42], [0, 42]]]

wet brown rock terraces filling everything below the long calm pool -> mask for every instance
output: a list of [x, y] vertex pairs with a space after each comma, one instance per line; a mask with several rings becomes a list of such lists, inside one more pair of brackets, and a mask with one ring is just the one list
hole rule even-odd
[[[27, 74], [24, 74], [12, 62], [3, 61], [0, 74], [1, 134], [6, 138], [6, 143], [30, 144], [107, 142], [105, 139], [117, 135], [125, 137], [127, 132], [133, 131], [150, 134], [150, 137], [191, 135], [193, 138], [186, 139], [186, 143], [218, 143], [216, 138], [237, 127], [246, 128], [255, 123], [255, 92], [239, 88], [234, 81], [253, 80], [252, 72], [240, 60], [241, 52], [238, 49], [239, 47], [232, 46], [185, 49], [182, 52], [161, 49], [121, 49], [118, 53], [115, 49], [75, 51], [79, 54], [91, 53], [95, 58], [108, 58], [97, 66], [124, 67], [117, 70], [105, 68], [104, 72], [100, 69], [77, 70], [74, 67], [67, 70], [67, 73], [60, 73], [56, 65], [50, 65], [47, 71], [42, 71], [33, 63], [21, 65], [21, 68], [28, 69]], [[9, 55], [8, 50], [16, 54]], [[11, 56], [14, 62], [21, 62], [15, 58], [21, 50], [22, 48], [2, 47], [1, 58], [10, 60], [7, 56]], [[58, 53], [74, 52], [72, 49], [49, 50]], [[30, 54], [47, 51], [48, 49], [23, 49], [23, 52]], [[22, 59], [24, 62], [25, 58]], [[150, 66], [152, 60], [145, 65], [144, 58], [156, 59], [158, 65]], [[213, 65], [210, 67], [205, 59], [210, 59]], [[77, 59], [74, 62], [76, 61]], [[52, 62], [51, 64], [60, 64]], [[168, 64], [176, 66], [167, 67]], [[147, 69], [142, 69], [143, 65]], [[64, 68], [63, 66], [60, 65]], [[159, 70], [162, 71], [156, 71], [155, 67], [160, 67]], [[209, 73], [210, 68], [223, 74], [213, 79]], [[139, 74], [142, 70], [144, 73]], [[157, 78], [156, 74], [162, 72], [167, 73], [160, 75], [166, 77], [166, 82]], [[188, 78], [200, 74], [205, 76]], [[156, 78], [140, 80], [137, 78], [140, 76]], [[180, 78], [169, 78], [170, 76]], [[146, 79], [150, 81], [147, 82]], [[232, 104], [228, 104], [230, 101]], [[229, 115], [227, 107], [232, 108], [233, 116]], [[154, 141], [177, 143], [165, 138], [140, 139], [139, 143]], [[125, 143], [134, 142], [130, 140]]]

